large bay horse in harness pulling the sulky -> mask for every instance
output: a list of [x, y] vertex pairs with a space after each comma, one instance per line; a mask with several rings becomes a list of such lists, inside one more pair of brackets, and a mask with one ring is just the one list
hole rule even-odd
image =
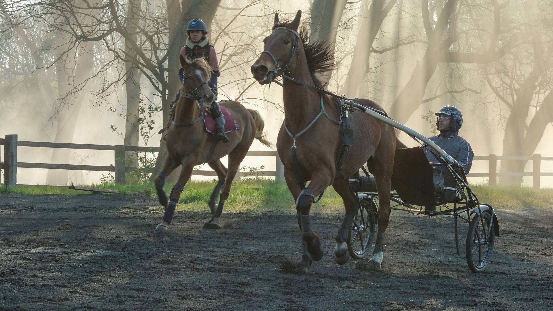
[[[324, 87], [316, 74], [334, 66], [334, 55], [325, 42], [307, 42], [304, 28], [298, 33], [301, 11], [292, 22], [279, 22], [275, 14], [273, 32], [263, 40], [264, 51], [252, 65], [252, 74], [260, 84], [269, 84], [279, 75], [307, 84]], [[390, 185], [395, 148], [399, 142], [394, 128], [364, 113], [354, 113], [351, 128], [353, 144], [339, 173], [336, 159], [341, 144], [340, 108], [330, 96], [283, 80], [284, 122], [280, 127], [276, 149], [284, 164], [284, 178], [294, 196], [301, 231], [302, 255], [298, 265], [309, 272], [313, 261], [323, 255], [321, 238], [313, 230], [310, 209], [315, 198], [330, 185], [342, 197], [346, 209], [336, 235], [335, 261], [343, 265], [349, 258], [346, 239], [352, 218], [359, 209], [357, 196], [349, 187], [349, 177], [364, 165], [374, 174], [378, 196], [377, 245], [369, 263], [380, 268], [383, 258], [384, 232], [390, 217]], [[355, 102], [383, 111], [377, 103], [358, 99]], [[305, 188], [306, 181], [311, 182]]]

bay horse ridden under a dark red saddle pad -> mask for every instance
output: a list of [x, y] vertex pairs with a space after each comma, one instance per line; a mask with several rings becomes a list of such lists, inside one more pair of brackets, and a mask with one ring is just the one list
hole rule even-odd
[[[221, 102], [221, 107], [231, 113], [239, 129], [228, 133], [228, 143], [216, 142], [214, 135], [207, 133], [200, 116], [200, 107], [209, 108], [213, 101], [213, 92], [207, 81], [211, 67], [204, 58], [190, 60], [180, 56], [184, 68], [181, 96], [176, 104], [174, 120], [171, 121], [166, 139], [167, 158], [161, 172], [155, 178], [155, 189], [159, 203], [165, 208], [161, 224], [156, 226], [156, 233], [165, 233], [173, 219], [176, 204], [186, 182], [192, 175], [195, 165], [207, 163], [217, 173], [218, 182], [211, 193], [208, 206], [213, 214], [204, 228], [217, 229], [223, 205], [231, 190], [232, 180], [237, 174], [239, 165], [246, 157], [254, 139], [267, 147], [272, 147], [263, 133], [264, 122], [259, 113], [247, 109], [236, 101]], [[228, 169], [221, 163], [221, 158], [228, 154]], [[163, 190], [165, 177], [182, 164], [179, 180], [171, 190], [169, 202]], [[215, 208], [217, 195], [221, 192], [219, 203]]]

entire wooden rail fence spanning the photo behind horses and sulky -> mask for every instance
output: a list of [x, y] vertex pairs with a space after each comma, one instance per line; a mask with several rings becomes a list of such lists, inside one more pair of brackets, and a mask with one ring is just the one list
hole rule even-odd
[[[71, 170], [96, 170], [102, 172], [114, 172], [115, 182], [125, 183], [125, 173], [127, 170], [134, 170], [132, 167], [125, 167], [124, 163], [117, 159], [123, 159], [126, 151], [138, 152], [159, 152], [159, 147], [131, 147], [131, 146], [111, 146], [101, 144], [74, 144], [74, 143], [49, 143], [49, 142], [29, 142], [18, 141], [17, 135], [6, 135], [6, 138], [0, 138], [0, 146], [4, 145], [4, 162], [0, 162], [0, 169], [4, 170], [4, 184], [14, 186], [17, 180], [17, 168], [48, 168], [48, 169], [71, 169]], [[90, 149], [90, 150], [108, 150], [114, 151], [113, 166], [99, 165], [76, 165], [76, 164], [50, 164], [50, 163], [28, 163], [17, 162], [17, 147], [45, 147], [45, 148], [70, 148], [70, 149]], [[263, 171], [263, 176], [274, 176], [276, 180], [284, 180], [284, 167], [276, 151], [249, 151], [247, 155], [270, 156], [275, 157], [275, 170]], [[541, 161], [551, 161], [553, 157], [542, 157], [540, 154], [534, 154], [531, 157], [503, 157], [501, 155], [475, 155], [474, 160], [488, 160], [487, 173], [469, 173], [468, 177], [489, 177], [489, 184], [495, 185], [497, 177], [502, 176], [532, 176], [534, 189], [540, 189], [540, 177], [553, 176], [553, 173], [542, 173]], [[498, 173], [497, 160], [531, 160], [533, 162], [532, 172], [520, 173]], [[192, 175], [216, 176], [211, 170], [194, 170]], [[244, 172], [239, 172], [237, 177], [244, 176]]]

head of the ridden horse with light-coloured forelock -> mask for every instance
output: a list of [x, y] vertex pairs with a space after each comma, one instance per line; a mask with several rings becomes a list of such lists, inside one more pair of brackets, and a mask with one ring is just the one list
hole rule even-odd
[[210, 107], [215, 96], [208, 84], [213, 72], [211, 66], [204, 58], [190, 60], [188, 56], [185, 58], [182, 55], [180, 55], [180, 65], [184, 69], [181, 94], [191, 96], [204, 108]]

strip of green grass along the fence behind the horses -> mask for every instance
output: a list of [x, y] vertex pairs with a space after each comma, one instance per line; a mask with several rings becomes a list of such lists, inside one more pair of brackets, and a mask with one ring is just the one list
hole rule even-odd
[[[119, 194], [129, 194], [129, 191], [151, 189], [155, 195], [155, 186], [152, 183], [138, 185], [90, 185], [97, 188], [119, 190]], [[207, 208], [207, 200], [215, 186], [212, 182], [189, 182], [180, 196], [178, 210], [202, 210]], [[173, 185], [166, 184], [165, 192], [169, 195]], [[482, 203], [492, 204], [494, 207], [521, 207], [553, 206], [553, 189], [533, 190], [519, 186], [472, 185], [471, 189], [478, 195]], [[14, 188], [0, 185], [0, 194], [88, 194], [87, 191], [70, 190], [67, 187], [29, 185]], [[116, 194], [115, 194], [116, 195]], [[329, 187], [314, 211], [343, 211], [342, 199]], [[159, 208], [160, 209], [160, 208]], [[158, 210], [158, 208], [152, 208]], [[160, 209], [163, 211], [163, 209]], [[226, 211], [290, 211], [294, 212], [294, 200], [288, 186], [283, 182], [273, 182], [259, 179], [247, 183], [234, 182], [231, 193], [225, 203]]]

